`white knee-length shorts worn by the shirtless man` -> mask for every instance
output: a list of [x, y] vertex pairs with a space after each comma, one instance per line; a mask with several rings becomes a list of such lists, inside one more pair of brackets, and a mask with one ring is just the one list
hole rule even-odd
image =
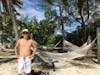
[[18, 59], [18, 74], [31, 73], [31, 59], [29, 57], [20, 57]]

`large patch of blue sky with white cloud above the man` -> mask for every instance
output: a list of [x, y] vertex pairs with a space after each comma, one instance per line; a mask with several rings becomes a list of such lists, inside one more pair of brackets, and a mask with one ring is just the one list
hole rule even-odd
[[[41, 9], [36, 6], [37, 1], [32, 0], [34, 2], [30, 2], [30, 0], [22, 0], [23, 6], [21, 9], [16, 8], [16, 10], [22, 15], [22, 16], [28, 16], [29, 18], [33, 18], [34, 16], [41, 20], [44, 18], [44, 11], [41, 11]], [[38, 9], [38, 10], [37, 10]], [[40, 10], [39, 10], [40, 9]]]

